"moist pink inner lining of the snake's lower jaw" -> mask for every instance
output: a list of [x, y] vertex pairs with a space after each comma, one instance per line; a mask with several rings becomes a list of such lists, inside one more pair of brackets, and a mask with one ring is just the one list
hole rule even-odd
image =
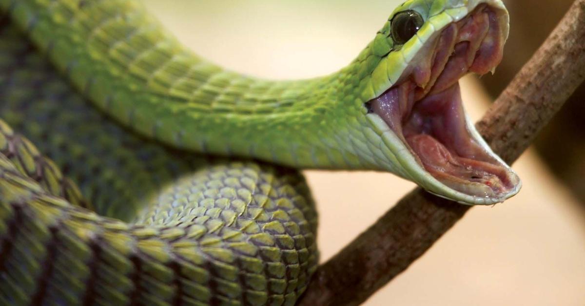
[[469, 132], [458, 83], [417, 102], [401, 138], [418, 163], [453, 190], [501, 198], [517, 183], [508, 167]]

